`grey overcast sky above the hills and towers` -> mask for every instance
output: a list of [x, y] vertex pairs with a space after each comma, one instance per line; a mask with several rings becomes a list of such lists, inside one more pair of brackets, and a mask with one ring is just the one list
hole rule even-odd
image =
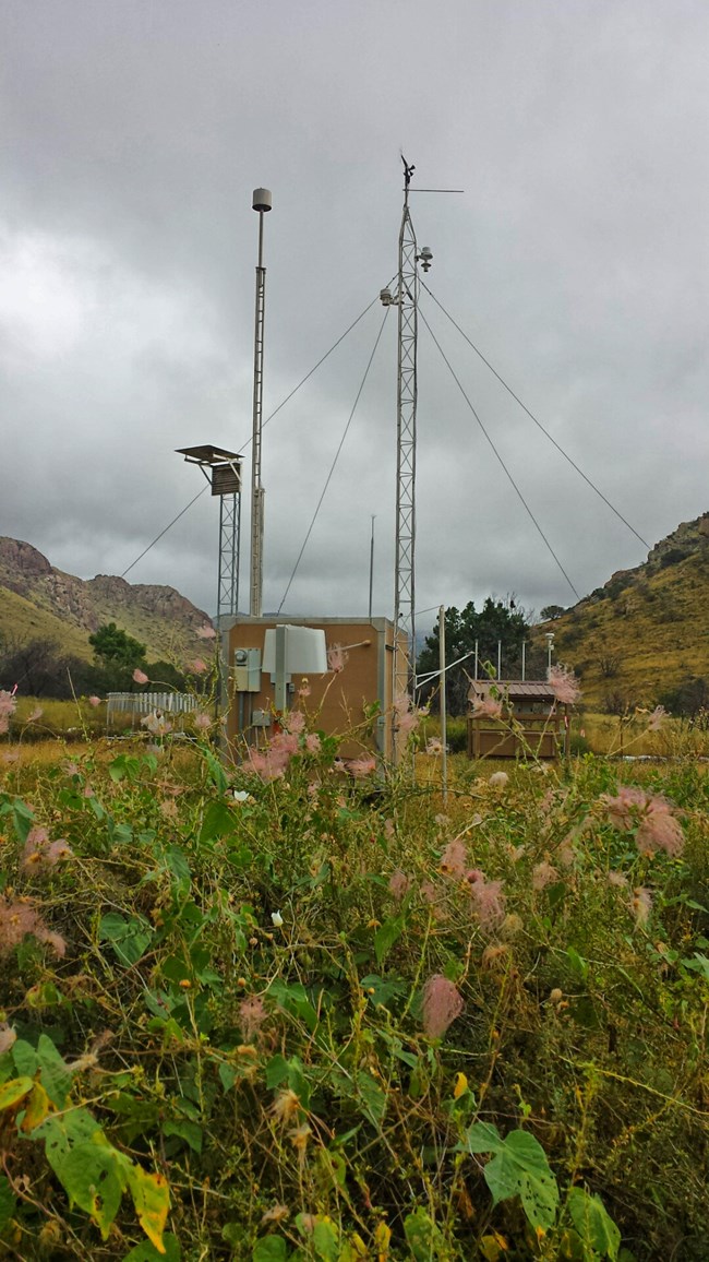
[[[709, 509], [706, 0], [1, 0], [0, 534], [120, 574], [249, 456], [257, 216], [269, 415], [397, 269], [650, 545]], [[573, 603], [647, 549], [424, 292], [416, 604]], [[385, 312], [264, 432], [279, 607]], [[429, 322], [489, 439], [431, 339]], [[394, 599], [396, 312], [284, 612]], [[249, 604], [249, 463], [242, 608]], [[204, 493], [127, 574], [214, 612]], [[433, 613], [423, 613], [425, 630]]]

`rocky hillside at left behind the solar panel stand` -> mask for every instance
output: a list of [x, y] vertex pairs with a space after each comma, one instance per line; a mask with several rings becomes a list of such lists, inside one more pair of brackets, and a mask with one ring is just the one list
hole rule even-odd
[[174, 587], [107, 574], [74, 578], [30, 544], [0, 536], [0, 635], [9, 644], [50, 639], [90, 660], [88, 636], [106, 622], [145, 644], [149, 660], [184, 663], [194, 654], [197, 628], [209, 618]]

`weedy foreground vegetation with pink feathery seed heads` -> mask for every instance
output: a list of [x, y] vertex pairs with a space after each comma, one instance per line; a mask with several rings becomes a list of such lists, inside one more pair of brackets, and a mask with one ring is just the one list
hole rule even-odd
[[0, 1256], [705, 1258], [694, 751], [213, 733], [0, 750]]

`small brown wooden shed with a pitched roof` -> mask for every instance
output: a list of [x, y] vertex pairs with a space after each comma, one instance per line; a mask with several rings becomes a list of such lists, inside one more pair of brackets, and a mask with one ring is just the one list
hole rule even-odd
[[[503, 698], [502, 718], [473, 707]], [[545, 679], [476, 679], [468, 689], [469, 758], [556, 758], [568, 733], [568, 707]]]

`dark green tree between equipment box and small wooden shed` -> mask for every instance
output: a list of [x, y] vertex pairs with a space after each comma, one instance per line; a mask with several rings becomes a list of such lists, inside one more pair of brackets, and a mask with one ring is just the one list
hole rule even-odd
[[[488, 596], [482, 610], [476, 610], [474, 602], [469, 601], [463, 610], [452, 606], [445, 611], [445, 664], [450, 665], [466, 654], [474, 654], [476, 641], [478, 644], [478, 661], [481, 666], [489, 661], [497, 671], [497, 646], [501, 645], [501, 675], [502, 678], [519, 678], [522, 659], [522, 642], [530, 630], [530, 621], [525, 610], [519, 608], [515, 598], [496, 601]], [[430, 635], [425, 637], [424, 649], [416, 664], [419, 675], [439, 669], [439, 631], [438, 623]], [[474, 670], [474, 658], [460, 666], [447, 671], [447, 702], [452, 714], [463, 714], [467, 705], [468, 675]], [[421, 697], [425, 699], [438, 689], [438, 679], [431, 679], [421, 688]]]

